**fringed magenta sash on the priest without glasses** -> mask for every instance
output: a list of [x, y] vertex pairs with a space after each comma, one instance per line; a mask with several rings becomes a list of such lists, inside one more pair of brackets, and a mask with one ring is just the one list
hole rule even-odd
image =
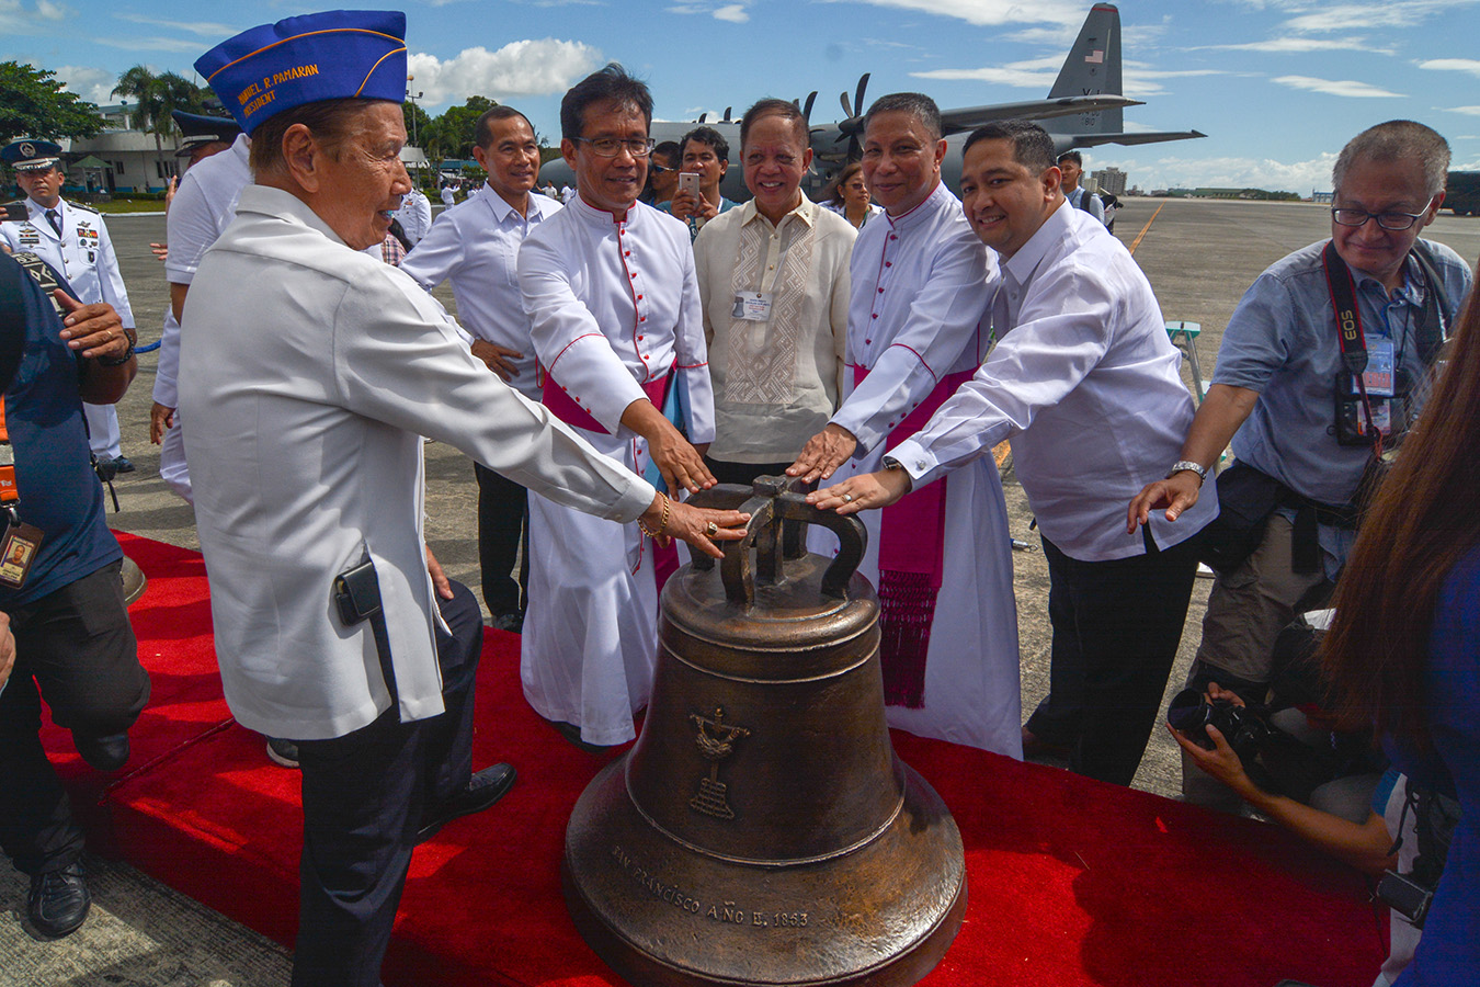
[[[854, 366], [852, 386], [869, 376]], [[904, 416], [884, 442], [894, 448], [925, 428], [931, 416], [971, 380], [972, 371], [946, 374], [919, 407]], [[879, 658], [884, 701], [919, 709], [925, 704], [925, 656], [935, 620], [935, 596], [946, 568], [946, 479], [913, 490], [879, 518]]]

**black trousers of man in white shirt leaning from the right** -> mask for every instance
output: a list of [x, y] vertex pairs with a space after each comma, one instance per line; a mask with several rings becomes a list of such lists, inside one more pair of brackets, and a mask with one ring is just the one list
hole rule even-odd
[[1027, 721], [1070, 747], [1077, 774], [1131, 784], [1156, 727], [1197, 576], [1196, 536], [1125, 559], [1082, 562], [1043, 539], [1054, 629], [1049, 694]]

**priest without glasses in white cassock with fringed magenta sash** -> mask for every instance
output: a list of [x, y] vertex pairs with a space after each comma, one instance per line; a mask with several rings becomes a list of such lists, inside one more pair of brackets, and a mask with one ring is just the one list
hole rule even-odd
[[[981, 363], [992, 265], [940, 181], [944, 154], [928, 96], [870, 107], [863, 173], [885, 219], [864, 226], [852, 250], [852, 391], [793, 476], [844, 481], [881, 469]], [[946, 490], [863, 521], [858, 571], [879, 589], [889, 724], [1021, 758], [1017, 604], [996, 465], [978, 460]]]

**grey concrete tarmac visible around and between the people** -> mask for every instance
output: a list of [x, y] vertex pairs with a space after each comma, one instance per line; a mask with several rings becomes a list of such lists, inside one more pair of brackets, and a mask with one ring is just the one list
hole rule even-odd
[[[1154, 222], [1153, 222], [1154, 216]], [[1218, 342], [1239, 297], [1258, 274], [1291, 250], [1329, 235], [1328, 207], [1308, 203], [1245, 203], [1128, 198], [1116, 235], [1137, 241], [1168, 320], [1202, 326], [1197, 349], [1203, 379], [1212, 376]], [[163, 265], [149, 252], [164, 240], [163, 215], [108, 219], [142, 343], [158, 339], [167, 303]], [[1144, 235], [1141, 235], [1144, 231]], [[1480, 256], [1480, 220], [1440, 216], [1425, 234], [1459, 252]], [[456, 311], [451, 293], [438, 297]], [[243, 312], [243, 318], [250, 318]], [[115, 487], [121, 512], [108, 522], [121, 530], [184, 548], [198, 548], [191, 508], [158, 478], [158, 447], [148, 442], [157, 357], [139, 360], [139, 377], [118, 404], [124, 454], [138, 472]], [[1187, 363], [1183, 364], [1188, 380]], [[1011, 472], [1005, 476], [1015, 539], [1037, 546], [1032, 513]], [[426, 536], [448, 576], [477, 590], [477, 484], [471, 462], [444, 444], [426, 447]], [[1023, 710], [1030, 713], [1048, 691], [1048, 570], [1036, 548], [1014, 553]], [[1181, 654], [1168, 694], [1174, 694], [1196, 651], [1208, 580], [1193, 593]], [[1052, 762], [1049, 762], [1052, 764]], [[1175, 798], [1180, 786], [1175, 744], [1157, 728], [1135, 787]], [[490, 811], [496, 824], [497, 808]], [[93, 910], [87, 923], [59, 941], [46, 941], [25, 922], [25, 876], [0, 873], [0, 987], [281, 987], [290, 954], [275, 943], [204, 909], [127, 864], [89, 858]], [[426, 984], [434, 984], [429, 975]]]

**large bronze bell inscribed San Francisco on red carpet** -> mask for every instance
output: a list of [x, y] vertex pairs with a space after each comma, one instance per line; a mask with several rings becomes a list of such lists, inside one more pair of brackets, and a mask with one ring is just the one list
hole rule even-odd
[[889, 744], [863, 524], [799, 488], [693, 499], [752, 537], [669, 579], [642, 734], [565, 830], [576, 925], [638, 987], [913, 984], [966, 910], [956, 823]]

